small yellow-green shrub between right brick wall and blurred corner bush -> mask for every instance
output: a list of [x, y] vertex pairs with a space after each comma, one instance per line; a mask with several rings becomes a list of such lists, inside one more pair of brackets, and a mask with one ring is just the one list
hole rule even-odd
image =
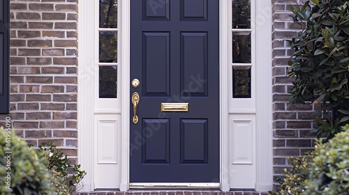
[[281, 189], [279, 192], [269, 192], [271, 195], [300, 195], [304, 192], [304, 181], [309, 176], [309, 166], [313, 160], [313, 153], [305, 156], [290, 157], [291, 169], [284, 170], [285, 176], [280, 181]]

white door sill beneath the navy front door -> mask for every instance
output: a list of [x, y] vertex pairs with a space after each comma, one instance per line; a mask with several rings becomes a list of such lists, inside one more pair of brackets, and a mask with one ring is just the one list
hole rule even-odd
[[130, 183], [130, 189], [219, 189], [220, 184], [215, 183], [165, 183], [165, 182], [154, 182], [154, 183]]

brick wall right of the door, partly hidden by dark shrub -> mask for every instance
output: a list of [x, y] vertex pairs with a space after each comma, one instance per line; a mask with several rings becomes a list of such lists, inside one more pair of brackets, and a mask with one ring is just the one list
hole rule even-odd
[[[273, 2], [273, 107], [274, 107], [274, 178], [288, 168], [287, 157], [303, 155], [314, 146], [314, 104], [289, 104], [292, 79], [287, 77], [288, 59], [292, 49], [286, 40], [297, 36], [299, 26], [290, 28], [292, 12], [289, 4], [302, 0], [272, 0]], [[317, 106], [317, 105], [316, 105]], [[276, 182], [275, 182], [276, 183]], [[278, 187], [278, 185], [275, 185]]]

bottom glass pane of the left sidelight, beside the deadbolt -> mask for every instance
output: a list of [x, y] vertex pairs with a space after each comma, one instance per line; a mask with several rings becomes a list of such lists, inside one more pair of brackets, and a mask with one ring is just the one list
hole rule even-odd
[[117, 98], [117, 66], [99, 67], [99, 98]]

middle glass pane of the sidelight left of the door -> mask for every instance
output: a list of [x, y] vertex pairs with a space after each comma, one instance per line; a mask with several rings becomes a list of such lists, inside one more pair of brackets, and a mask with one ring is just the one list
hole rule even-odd
[[117, 63], [117, 32], [99, 32], [99, 62]]

